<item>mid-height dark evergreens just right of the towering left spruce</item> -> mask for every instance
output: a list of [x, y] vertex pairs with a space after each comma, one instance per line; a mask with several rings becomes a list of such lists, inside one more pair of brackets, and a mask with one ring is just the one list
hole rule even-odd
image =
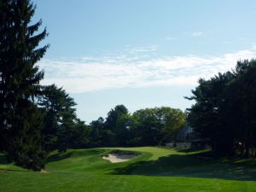
[[84, 147], [89, 134], [84, 122], [77, 119], [76, 103], [62, 88], [55, 84], [44, 87], [44, 97], [39, 102], [44, 108], [44, 129], [42, 131], [45, 151]]

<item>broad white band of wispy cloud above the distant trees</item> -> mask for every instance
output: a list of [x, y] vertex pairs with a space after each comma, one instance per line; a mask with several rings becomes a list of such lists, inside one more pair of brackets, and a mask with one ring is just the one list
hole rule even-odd
[[256, 57], [254, 47], [218, 56], [183, 55], [150, 59], [143, 54], [135, 54], [144, 53], [144, 50], [133, 49], [130, 51], [132, 55], [42, 60], [39, 66], [45, 71], [43, 83], [58, 84], [70, 93], [125, 87], [196, 85], [199, 78], [208, 79], [235, 67], [237, 60]]

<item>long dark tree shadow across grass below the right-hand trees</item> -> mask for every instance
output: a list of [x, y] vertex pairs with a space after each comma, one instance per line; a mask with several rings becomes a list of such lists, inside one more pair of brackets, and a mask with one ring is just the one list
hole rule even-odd
[[256, 163], [255, 160], [205, 159], [201, 154], [171, 154], [159, 160], [137, 161], [118, 167], [111, 174], [256, 181]]

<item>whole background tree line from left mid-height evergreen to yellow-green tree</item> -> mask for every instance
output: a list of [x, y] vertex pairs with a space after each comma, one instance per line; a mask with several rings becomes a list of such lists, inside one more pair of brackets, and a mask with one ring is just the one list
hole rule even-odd
[[41, 132], [42, 148], [46, 152], [66, 151], [67, 148], [154, 146], [174, 140], [186, 123], [180, 109], [146, 108], [129, 113], [124, 105], [117, 105], [85, 125], [76, 116], [76, 103], [65, 90], [55, 84], [44, 86], [44, 96], [38, 106], [44, 113]]

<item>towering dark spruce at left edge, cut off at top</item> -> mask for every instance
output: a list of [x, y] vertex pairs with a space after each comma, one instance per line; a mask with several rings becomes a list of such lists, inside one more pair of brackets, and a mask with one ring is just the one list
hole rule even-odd
[[44, 168], [40, 143], [40, 96], [44, 72], [36, 65], [49, 45], [38, 48], [47, 36], [35, 34], [42, 21], [30, 25], [35, 6], [30, 0], [0, 0], [0, 151], [35, 171]]

